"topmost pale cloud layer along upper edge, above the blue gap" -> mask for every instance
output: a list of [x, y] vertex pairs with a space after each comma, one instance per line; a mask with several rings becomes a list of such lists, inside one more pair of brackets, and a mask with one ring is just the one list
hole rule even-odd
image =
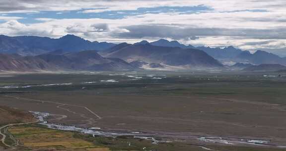
[[[127, 4], [128, 3], [128, 4]], [[84, 10], [102, 12], [114, 10], [136, 10], [154, 6], [206, 5], [217, 11], [259, 10], [284, 11], [285, 0], [2, 0], [0, 12], [33, 12]]]

